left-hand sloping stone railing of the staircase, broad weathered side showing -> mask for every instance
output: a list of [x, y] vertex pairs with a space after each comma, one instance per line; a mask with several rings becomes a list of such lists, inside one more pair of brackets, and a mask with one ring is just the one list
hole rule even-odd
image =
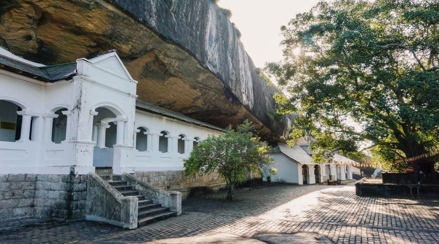
[[137, 228], [138, 198], [124, 197], [98, 174], [88, 173], [85, 220]]

